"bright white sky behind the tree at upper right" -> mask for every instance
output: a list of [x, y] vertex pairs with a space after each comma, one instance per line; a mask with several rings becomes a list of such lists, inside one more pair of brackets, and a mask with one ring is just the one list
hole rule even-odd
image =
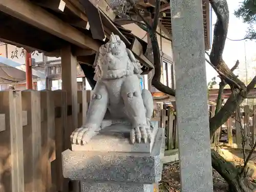
[[[237, 10], [239, 8], [241, 1], [243, 0], [227, 0], [229, 8], [229, 27], [227, 37], [230, 39], [243, 39], [247, 31], [248, 25], [244, 24], [242, 19], [237, 18], [233, 14], [234, 10]], [[216, 15], [212, 10], [212, 34], [216, 19]], [[256, 58], [255, 48], [256, 41], [231, 41], [227, 39], [223, 52], [223, 59], [229, 68], [233, 67], [237, 60], [240, 61], [240, 68], [245, 68], [245, 56], [247, 60], [247, 66], [249, 66], [248, 63], [251, 63], [252, 59]], [[256, 67], [256, 62], [253, 65], [255, 65]], [[207, 82], [209, 82], [212, 77], [217, 76], [217, 72], [213, 68], [211, 68], [208, 63], [206, 63], [206, 75]]]

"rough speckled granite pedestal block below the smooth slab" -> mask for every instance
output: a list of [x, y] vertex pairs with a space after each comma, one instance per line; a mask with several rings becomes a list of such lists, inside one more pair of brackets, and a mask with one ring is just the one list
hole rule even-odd
[[[153, 184], [161, 179], [164, 148], [164, 130], [157, 130], [151, 153], [66, 150], [63, 176], [80, 180], [82, 192], [153, 192]], [[101, 145], [107, 146], [107, 141]]]

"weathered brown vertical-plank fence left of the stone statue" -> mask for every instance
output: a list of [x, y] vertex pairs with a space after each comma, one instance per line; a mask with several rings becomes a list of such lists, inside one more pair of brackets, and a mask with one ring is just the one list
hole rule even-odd
[[[86, 120], [91, 91], [78, 91], [78, 126]], [[0, 191], [68, 191], [61, 152], [70, 146], [72, 108], [67, 93], [0, 92]]]

